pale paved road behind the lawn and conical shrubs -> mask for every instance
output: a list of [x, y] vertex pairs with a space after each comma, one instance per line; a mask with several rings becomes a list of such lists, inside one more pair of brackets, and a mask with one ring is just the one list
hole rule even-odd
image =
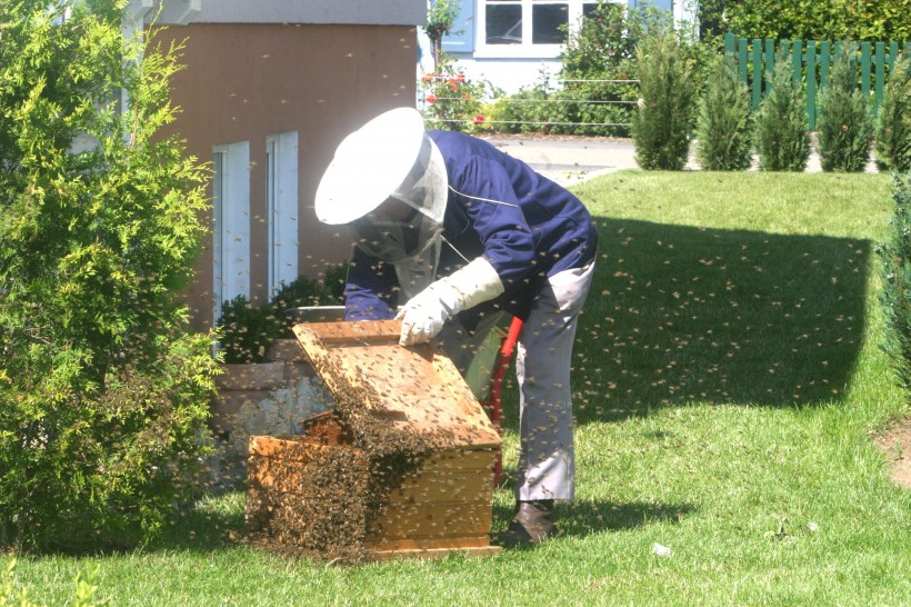
[[[482, 136], [504, 152], [528, 162], [534, 170], [558, 183], [571, 186], [592, 177], [621, 169], [638, 169], [632, 139], [538, 135]], [[753, 162], [755, 170], [755, 162]], [[699, 170], [692, 153], [687, 170]], [[810, 153], [807, 172], [820, 172], [819, 155]], [[867, 168], [875, 172], [871, 162]]]

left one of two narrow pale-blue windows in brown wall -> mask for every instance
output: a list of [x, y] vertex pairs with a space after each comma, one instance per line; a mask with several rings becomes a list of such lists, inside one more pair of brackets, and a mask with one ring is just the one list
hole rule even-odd
[[250, 143], [212, 149], [212, 297], [221, 305], [250, 297]]

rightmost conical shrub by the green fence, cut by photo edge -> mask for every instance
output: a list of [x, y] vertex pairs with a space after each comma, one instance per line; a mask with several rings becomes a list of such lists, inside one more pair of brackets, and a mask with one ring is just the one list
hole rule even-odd
[[911, 170], [911, 58], [895, 62], [877, 116], [875, 158], [880, 170]]

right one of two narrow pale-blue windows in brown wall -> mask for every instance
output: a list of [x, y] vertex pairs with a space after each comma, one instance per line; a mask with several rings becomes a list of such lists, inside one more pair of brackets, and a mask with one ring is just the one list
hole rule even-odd
[[298, 132], [266, 140], [269, 293], [298, 277]]

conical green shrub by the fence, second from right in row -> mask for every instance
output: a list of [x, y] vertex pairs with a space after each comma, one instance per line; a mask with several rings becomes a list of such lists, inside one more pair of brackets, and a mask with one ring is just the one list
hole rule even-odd
[[819, 155], [824, 171], [860, 172], [870, 161], [873, 121], [870, 99], [858, 87], [857, 44], [835, 57], [829, 82], [819, 94]]

